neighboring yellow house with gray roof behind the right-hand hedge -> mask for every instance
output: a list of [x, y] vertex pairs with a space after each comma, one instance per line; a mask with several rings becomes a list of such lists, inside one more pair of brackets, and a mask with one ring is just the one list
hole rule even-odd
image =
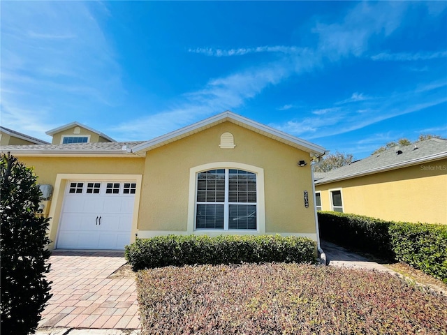
[[447, 224], [447, 140], [388, 149], [314, 179], [318, 210]]

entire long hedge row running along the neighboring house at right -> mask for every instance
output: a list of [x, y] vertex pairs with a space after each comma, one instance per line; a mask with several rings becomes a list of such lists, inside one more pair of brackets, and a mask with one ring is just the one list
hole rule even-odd
[[383, 221], [319, 211], [320, 237], [386, 260], [399, 260], [447, 283], [447, 225]]

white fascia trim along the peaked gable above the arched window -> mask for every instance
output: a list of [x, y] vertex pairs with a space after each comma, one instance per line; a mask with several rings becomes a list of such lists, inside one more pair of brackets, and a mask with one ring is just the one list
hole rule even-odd
[[288, 142], [292, 142], [293, 144], [296, 144], [301, 148], [305, 148], [305, 151], [308, 151], [311, 154], [312, 153], [323, 154], [325, 152], [325, 149], [323, 147], [320, 147], [319, 145], [312, 144], [305, 140], [301, 140], [298, 137], [288, 135], [287, 133], [283, 133], [282, 131], [277, 131], [274, 128], [265, 126], [263, 124], [259, 124], [256, 121], [252, 121], [245, 117], [241, 117], [240, 115], [234, 114], [233, 112], [229, 111], [214, 115], [214, 117], [209, 117], [208, 119], [205, 119], [203, 121], [196, 122], [196, 124], [191, 124], [190, 126], [180, 128], [177, 131], [173, 131], [167, 133], [166, 135], [156, 137], [153, 140], [149, 140], [142, 144], [138, 144], [132, 148], [132, 151], [133, 152], [149, 151], [156, 147], [161, 147], [164, 144], [168, 144], [170, 142], [174, 142], [175, 140], [179, 140], [180, 138], [186, 137], [187, 135], [191, 135], [192, 133], [198, 133], [198, 131], [200, 130], [210, 128], [215, 124], [219, 124], [223, 121], [233, 121], [233, 123], [235, 124], [240, 123], [248, 127], [256, 128], [260, 132], [270, 133], [270, 135], [272, 136], [280, 137], [281, 139], [286, 140]]

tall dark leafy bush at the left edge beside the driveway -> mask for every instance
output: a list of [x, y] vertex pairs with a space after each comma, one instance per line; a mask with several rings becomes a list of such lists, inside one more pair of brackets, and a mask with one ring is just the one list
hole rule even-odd
[[1, 334], [29, 334], [51, 297], [48, 219], [36, 215], [36, 176], [9, 154], [0, 158], [0, 187]]

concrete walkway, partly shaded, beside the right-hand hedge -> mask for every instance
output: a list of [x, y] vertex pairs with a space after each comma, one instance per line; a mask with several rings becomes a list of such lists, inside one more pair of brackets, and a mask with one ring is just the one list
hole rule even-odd
[[361, 255], [353, 253], [342, 246], [333, 244], [329, 241], [321, 240], [321, 248], [325, 252], [326, 260], [329, 266], [333, 267], [355, 267], [358, 269], [376, 269], [379, 271], [386, 271], [390, 274], [396, 272], [388, 269], [377, 262], [369, 260]]

